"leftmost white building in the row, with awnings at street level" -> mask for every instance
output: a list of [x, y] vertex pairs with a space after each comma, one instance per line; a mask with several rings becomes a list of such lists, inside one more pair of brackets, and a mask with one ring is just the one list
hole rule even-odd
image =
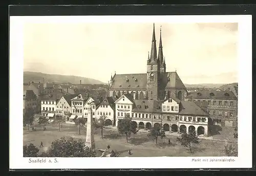
[[41, 115], [54, 118], [56, 113], [56, 98], [53, 95], [41, 99]]

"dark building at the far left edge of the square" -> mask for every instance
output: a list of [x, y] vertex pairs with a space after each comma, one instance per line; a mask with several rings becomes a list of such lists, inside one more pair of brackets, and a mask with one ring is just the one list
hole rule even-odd
[[32, 111], [33, 113], [37, 111], [37, 97], [32, 90], [26, 90], [23, 94], [23, 113], [27, 113], [27, 111]]

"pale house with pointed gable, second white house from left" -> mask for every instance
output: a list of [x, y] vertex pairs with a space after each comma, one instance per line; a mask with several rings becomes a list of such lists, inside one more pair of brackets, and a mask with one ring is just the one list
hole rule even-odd
[[62, 116], [69, 121], [71, 111], [71, 99], [77, 95], [63, 95], [56, 104], [56, 116]]

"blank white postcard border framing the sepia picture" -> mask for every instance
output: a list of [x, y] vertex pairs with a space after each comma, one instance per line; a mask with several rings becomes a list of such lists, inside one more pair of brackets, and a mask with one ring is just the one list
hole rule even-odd
[[[23, 25], [25, 23], [239, 23], [238, 157], [57, 158], [29, 163], [23, 158]], [[250, 168], [252, 167], [252, 16], [11, 16], [10, 17], [10, 169]], [[228, 67], [228, 65], [227, 65]], [[51, 159], [51, 158], [48, 158]], [[47, 159], [47, 160], [48, 160]], [[234, 159], [234, 162], [192, 162]], [[53, 160], [53, 159], [51, 159]]]

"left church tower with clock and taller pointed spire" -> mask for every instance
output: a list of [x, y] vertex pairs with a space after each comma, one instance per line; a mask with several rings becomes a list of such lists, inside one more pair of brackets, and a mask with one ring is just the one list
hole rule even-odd
[[153, 37], [151, 54], [147, 60], [147, 93], [148, 100], [158, 100], [159, 96], [159, 77], [160, 77], [160, 60], [157, 58], [155, 24], [153, 27]]

